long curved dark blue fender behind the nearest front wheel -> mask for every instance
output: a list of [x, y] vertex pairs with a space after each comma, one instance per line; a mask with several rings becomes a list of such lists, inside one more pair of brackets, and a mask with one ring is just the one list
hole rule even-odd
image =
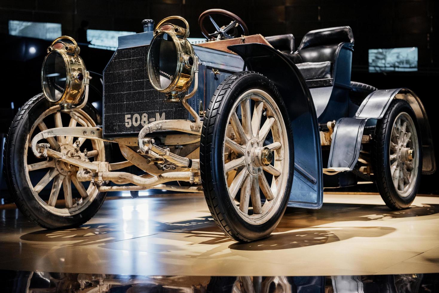
[[302, 74], [284, 54], [265, 44], [238, 44], [228, 49], [240, 55], [249, 70], [270, 79], [285, 101], [295, 153], [288, 206], [320, 208], [323, 203], [320, 134], [314, 103]]

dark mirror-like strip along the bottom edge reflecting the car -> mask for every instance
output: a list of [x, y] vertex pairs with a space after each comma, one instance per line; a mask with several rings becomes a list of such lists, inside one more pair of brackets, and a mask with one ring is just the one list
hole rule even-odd
[[[7, 292], [431, 293], [439, 274], [209, 277], [0, 271]], [[56, 291], [55, 291], [56, 290]]]

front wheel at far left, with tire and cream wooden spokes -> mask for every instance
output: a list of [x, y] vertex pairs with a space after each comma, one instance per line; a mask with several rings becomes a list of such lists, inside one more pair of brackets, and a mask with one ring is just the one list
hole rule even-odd
[[[77, 168], [59, 159], [37, 159], [31, 149], [32, 138], [42, 130], [53, 127], [94, 127], [101, 118], [92, 105], [75, 110], [74, 119], [69, 113], [58, 112], [43, 94], [30, 99], [12, 121], [4, 150], [4, 162], [9, 190], [18, 208], [29, 219], [43, 228], [75, 227], [90, 220], [104, 201], [105, 193], [99, 192], [90, 182], [76, 177]], [[50, 148], [67, 156], [76, 156], [75, 142], [80, 152], [91, 161], [105, 161], [102, 141], [71, 136], [48, 137]], [[72, 191], [73, 188], [73, 191]]]

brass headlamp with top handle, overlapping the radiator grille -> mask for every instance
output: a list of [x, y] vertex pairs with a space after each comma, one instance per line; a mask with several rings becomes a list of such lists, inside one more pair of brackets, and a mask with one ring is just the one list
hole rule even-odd
[[[168, 23], [180, 19], [186, 29]], [[178, 94], [188, 89], [194, 77], [196, 56], [189, 36], [189, 24], [180, 16], [158, 22], [148, 51], [148, 77], [152, 86], [167, 93], [166, 101], [178, 102]]]

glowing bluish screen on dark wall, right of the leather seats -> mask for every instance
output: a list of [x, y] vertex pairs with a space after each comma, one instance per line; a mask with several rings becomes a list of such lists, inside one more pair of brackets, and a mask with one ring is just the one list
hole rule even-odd
[[369, 49], [369, 72], [417, 71], [417, 47]]

